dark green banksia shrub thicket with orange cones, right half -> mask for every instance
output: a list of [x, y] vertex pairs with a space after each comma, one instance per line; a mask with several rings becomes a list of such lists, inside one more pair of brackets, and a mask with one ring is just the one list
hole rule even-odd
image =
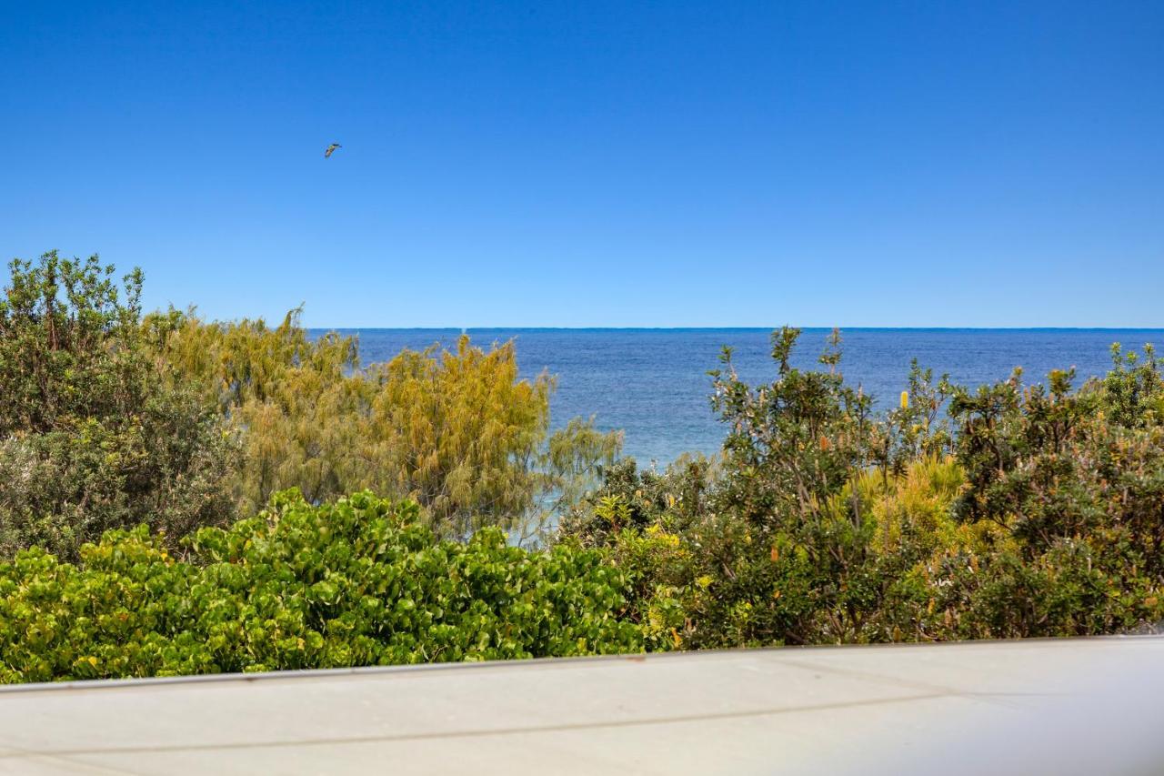
[[[916, 365], [875, 415], [819, 371], [712, 373], [716, 467], [611, 470], [560, 539], [605, 548], [653, 649], [1088, 635], [1164, 619], [1164, 381], [1149, 348], [1072, 390]], [[949, 401], [949, 415], [944, 405]]]

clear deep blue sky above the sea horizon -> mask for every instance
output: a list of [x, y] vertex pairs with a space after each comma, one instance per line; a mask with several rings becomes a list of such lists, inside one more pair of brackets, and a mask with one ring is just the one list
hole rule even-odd
[[0, 253], [150, 306], [1164, 326], [1161, 1], [0, 7]]

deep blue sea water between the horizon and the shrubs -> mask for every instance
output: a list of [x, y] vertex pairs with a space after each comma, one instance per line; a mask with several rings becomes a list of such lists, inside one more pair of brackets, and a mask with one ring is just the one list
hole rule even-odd
[[[403, 347], [454, 347], [459, 329], [339, 330], [360, 337], [364, 364], [390, 359]], [[710, 407], [711, 379], [723, 345], [734, 348], [737, 372], [752, 382], [775, 379], [768, 329], [470, 329], [474, 344], [517, 340], [527, 378], [558, 376], [551, 402], [554, 428], [575, 415], [594, 415], [604, 429], [625, 431], [624, 452], [640, 464], [666, 464], [684, 451], [711, 453], [724, 430]], [[830, 330], [807, 329], [797, 366], [815, 364]], [[1164, 346], [1164, 330], [1115, 329], [851, 329], [842, 332], [846, 380], [886, 404], [906, 387], [917, 358], [935, 376], [949, 373], [977, 386], [1009, 376], [1039, 381], [1051, 369], [1074, 366], [1079, 382], [1110, 366], [1109, 346]]]

